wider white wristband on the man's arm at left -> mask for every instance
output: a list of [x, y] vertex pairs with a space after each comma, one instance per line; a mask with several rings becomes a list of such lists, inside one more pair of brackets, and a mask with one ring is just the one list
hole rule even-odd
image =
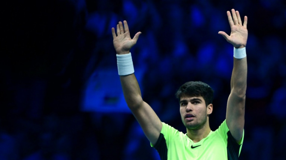
[[120, 76], [125, 76], [134, 73], [134, 67], [130, 52], [128, 54], [116, 54], [116, 57], [118, 74]]

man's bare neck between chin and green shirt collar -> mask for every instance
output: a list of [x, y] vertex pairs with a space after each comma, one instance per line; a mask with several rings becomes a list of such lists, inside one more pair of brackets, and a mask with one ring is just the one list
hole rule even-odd
[[187, 136], [193, 140], [194, 143], [201, 141], [203, 138], [207, 137], [210, 133], [210, 125], [207, 121], [205, 125], [203, 125], [201, 128], [193, 130], [187, 128]]

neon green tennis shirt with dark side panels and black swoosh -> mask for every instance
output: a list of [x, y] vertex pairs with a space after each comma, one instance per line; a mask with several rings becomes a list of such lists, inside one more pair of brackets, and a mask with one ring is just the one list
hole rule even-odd
[[161, 160], [233, 160], [238, 159], [244, 138], [244, 131], [240, 144], [232, 137], [226, 121], [219, 128], [210, 131], [207, 137], [194, 143], [187, 134], [162, 122], [163, 127], [154, 147]]

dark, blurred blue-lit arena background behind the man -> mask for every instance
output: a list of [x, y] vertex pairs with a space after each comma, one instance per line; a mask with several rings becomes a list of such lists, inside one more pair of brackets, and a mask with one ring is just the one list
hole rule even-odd
[[[163, 121], [185, 132], [175, 92], [215, 90], [225, 119], [233, 47], [226, 11], [248, 16], [240, 159], [285, 159], [286, 3], [279, 0], [43, 0], [1, 5], [0, 160], [159, 159], [124, 102], [111, 27], [127, 20], [135, 75]], [[126, 109], [127, 108], [127, 109]]]

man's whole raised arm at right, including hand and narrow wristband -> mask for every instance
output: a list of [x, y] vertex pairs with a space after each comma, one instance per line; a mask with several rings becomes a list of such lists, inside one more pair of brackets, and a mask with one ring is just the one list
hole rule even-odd
[[231, 92], [228, 97], [226, 108], [226, 124], [237, 143], [240, 143], [244, 128], [245, 93], [247, 82], [247, 60], [245, 52], [248, 36], [247, 17], [244, 17], [244, 22], [242, 24], [239, 12], [234, 9], [232, 9], [232, 16], [229, 11], [227, 11], [227, 16], [231, 27], [231, 34], [227, 35], [222, 31], [219, 31], [219, 34], [235, 48], [230, 82]]

